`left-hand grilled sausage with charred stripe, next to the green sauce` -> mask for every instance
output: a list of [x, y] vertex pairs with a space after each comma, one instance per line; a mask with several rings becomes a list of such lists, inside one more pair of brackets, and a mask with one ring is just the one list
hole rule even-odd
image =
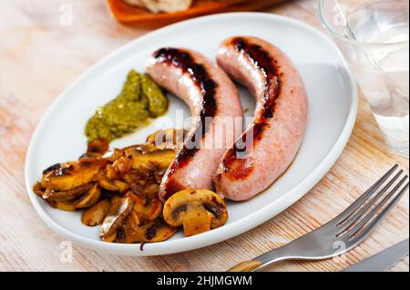
[[194, 117], [183, 148], [162, 180], [161, 199], [186, 189], [214, 190], [221, 158], [242, 133], [242, 128], [235, 129], [234, 119], [243, 114], [237, 88], [220, 67], [187, 49], [159, 49], [150, 57], [147, 72], [185, 101]]

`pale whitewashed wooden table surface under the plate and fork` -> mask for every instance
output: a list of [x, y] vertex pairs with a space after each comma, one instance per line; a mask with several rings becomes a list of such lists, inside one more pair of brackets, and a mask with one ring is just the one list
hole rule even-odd
[[[294, 1], [267, 12], [323, 29], [316, 2]], [[72, 19], [67, 17], [70, 10]], [[270, 222], [201, 250], [159, 257], [114, 256], [75, 245], [72, 263], [65, 263], [60, 259], [63, 238], [40, 220], [26, 194], [28, 143], [47, 107], [78, 74], [151, 30], [116, 23], [103, 0], [0, 0], [0, 271], [223, 271], [326, 223], [394, 163], [408, 170], [408, 161], [386, 149], [361, 98], [354, 134], [342, 157], [311, 192]], [[408, 237], [408, 205], [407, 193], [344, 260], [286, 262], [270, 270], [338, 271], [376, 254]], [[394, 268], [408, 269], [408, 260]]]

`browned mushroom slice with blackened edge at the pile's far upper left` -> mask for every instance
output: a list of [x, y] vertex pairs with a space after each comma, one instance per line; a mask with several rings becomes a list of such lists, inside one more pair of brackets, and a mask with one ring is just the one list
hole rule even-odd
[[106, 166], [102, 159], [85, 158], [77, 162], [58, 164], [44, 172], [41, 185], [56, 192], [67, 192], [87, 184]]

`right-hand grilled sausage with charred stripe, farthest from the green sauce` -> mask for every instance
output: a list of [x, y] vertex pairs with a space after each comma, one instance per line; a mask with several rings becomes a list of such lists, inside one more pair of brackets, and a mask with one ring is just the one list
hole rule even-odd
[[230, 38], [217, 59], [257, 102], [251, 125], [227, 150], [215, 176], [221, 195], [246, 201], [271, 186], [292, 163], [306, 130], [306, 90], [289, 58], [259, 38]]

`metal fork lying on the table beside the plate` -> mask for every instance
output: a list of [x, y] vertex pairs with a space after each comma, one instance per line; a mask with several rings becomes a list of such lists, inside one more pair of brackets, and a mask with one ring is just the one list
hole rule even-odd
[[331, 222], [229, 271], [254, 272], [278, 261], [325, 260], [350, 251], [364, 241], [407, 192], [408, 176], [404, 175], [396, 164]]

